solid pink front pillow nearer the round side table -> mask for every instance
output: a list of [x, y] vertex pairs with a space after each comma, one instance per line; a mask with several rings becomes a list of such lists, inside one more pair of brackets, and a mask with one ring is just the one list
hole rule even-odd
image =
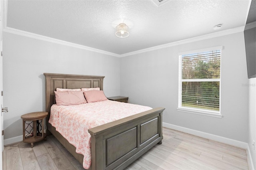
[[57, 105], [80, 105], [87, 103], [82, 91], [54, 91]]

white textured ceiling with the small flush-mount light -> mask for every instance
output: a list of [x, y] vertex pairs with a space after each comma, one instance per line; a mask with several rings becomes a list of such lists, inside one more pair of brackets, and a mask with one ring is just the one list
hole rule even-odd
[[[124, 54], [244, 26], [250, 0], [8, 0], [6, 27]], [[128, 38], [115, 26], [130, 27]]]

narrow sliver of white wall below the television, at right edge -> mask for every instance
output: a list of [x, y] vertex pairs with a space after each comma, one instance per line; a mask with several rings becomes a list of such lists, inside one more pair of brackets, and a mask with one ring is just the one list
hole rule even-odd
[[249, 136], [248, 145], [254, 169], [256, 168], [256, 146], [253, 146], [253, 140], [256, 142], [256, 78], [249, 79], [245, 86], [249, 89]]

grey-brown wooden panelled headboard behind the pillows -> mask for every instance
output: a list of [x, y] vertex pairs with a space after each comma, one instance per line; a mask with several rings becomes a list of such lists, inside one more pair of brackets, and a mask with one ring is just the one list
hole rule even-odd
[[90, 87], [100, 87], [103, 90], [103, 78], [105, 76], [92, 76], [92, 75], [71, 75], [71, 74], [54, 74], [44, 73], [46, 78], [46, 112], [50, 118], [50, 109], [55, 104], [56, 88], [62, 89], [81, 89]]

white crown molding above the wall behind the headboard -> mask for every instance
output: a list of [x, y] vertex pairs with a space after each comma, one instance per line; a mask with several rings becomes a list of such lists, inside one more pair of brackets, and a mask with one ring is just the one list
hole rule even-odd
[[17, 30], [15, 28], [5, 27], [3, 29], [3, 32], [17, 34], [17, 35], [25, 36], [25, 37], [29, 37], [29, 38], [35, 38], [37, 40], [42, 40], [42, 41], [47, 41], [47, 42], [52, 42], [52, 43], [58, 43], [58, 44], [61, 44], [61, 45], [67, 45], [67, 46], [70, 46], [70, 47], [85, 49], [85, 50], [93, 51], [93, 52], [96, 52], [96, 53], [111, 55], [111, 56], [114, 56], [114, 57], [120, 57], [120, 55], [116, 54], [116, 53], [111, 53], [111, 52], [108, 52], [108, 51], [104, 51], [104, 50], [101, 50], [101, 49], [96, 49], [96, 48], [92, 48], [92, 47], [88, 47], [88, 46], [84, 46], [84, 45], [80, 45], [80, 44], [76, 44], [76, 43], [66, 42], [66, 41], [63, 41], [63, 40], [55, 39], [55, 38], [41, 36], [41, 35], [34, 34], [34, 33], [31, 33], [31, 32]]

